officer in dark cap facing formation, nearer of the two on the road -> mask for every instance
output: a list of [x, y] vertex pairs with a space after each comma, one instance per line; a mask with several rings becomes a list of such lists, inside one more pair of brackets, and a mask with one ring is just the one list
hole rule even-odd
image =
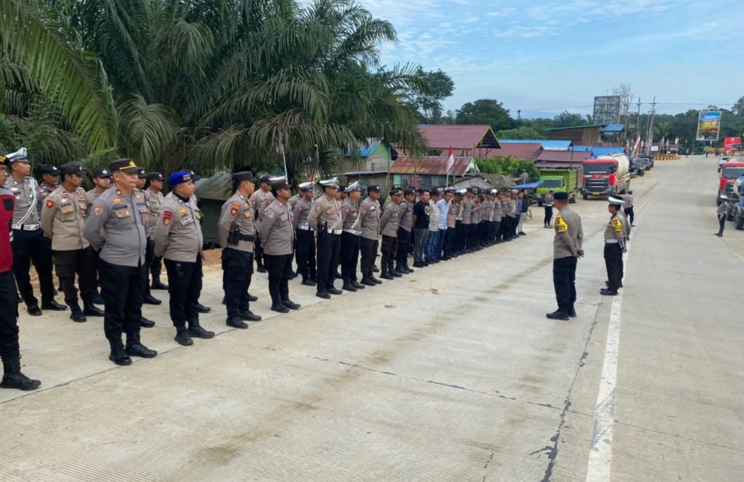
[[550, 319], [568, 319], [569, 316], [576, 316], [576, 264], [584, 255], [584, 231], [581, 218], [568, 207], [568, 192], [557, 192], [554, 203], [558, 214], [554, 222], [553, 286], [558, 309], [546, 316]]

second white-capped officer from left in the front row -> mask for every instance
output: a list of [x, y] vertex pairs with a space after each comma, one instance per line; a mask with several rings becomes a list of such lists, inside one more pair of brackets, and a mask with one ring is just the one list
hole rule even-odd
[[361, 244], [362, 220], [359, 218], [359, 201], [362, 198], [362, 188], [359, 181], [354, 182], [346, 189], [346, 198], [341, 203], [341, 221], [344, 232], [341, 233], [341, 277], [344, 286], [341, 289], [356, 291], [364, 289], [365, 285], [356, 279], [356, 266], [359, 261], [359, 246]]

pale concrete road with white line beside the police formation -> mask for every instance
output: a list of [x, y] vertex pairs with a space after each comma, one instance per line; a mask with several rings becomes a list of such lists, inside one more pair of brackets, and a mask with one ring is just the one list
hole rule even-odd
[[[744, 232], [716, 238], [716, 160], [632, 181], [622, 297], [606, 279], [606, 202], [579, 201], [579, 316], [555, 322], [551, 230], [274, 316], [266, 275], [229, 330], [217, 267], [202, 324], [116, 367], [102, 322], [22, 314], [31, 393], [0, 391], [0, 479], [28, 481], [741, 481]], [[163, 292], [156, 292], [167, 300]], [[167, 303], [166, 303], [167, 304]], [[46, 315], [46, 313], [45, 313]]]

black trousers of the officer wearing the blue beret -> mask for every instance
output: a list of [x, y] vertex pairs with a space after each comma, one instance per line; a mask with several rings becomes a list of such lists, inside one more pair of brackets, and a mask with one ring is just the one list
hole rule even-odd
[[199, 322], [196, 307], [202, 294], [202, 255], [196, 255], [194, 261], [166, 259], [165, 270], [168, 273], [168, 307], [173, 326], [185, 328], [186, 322]]

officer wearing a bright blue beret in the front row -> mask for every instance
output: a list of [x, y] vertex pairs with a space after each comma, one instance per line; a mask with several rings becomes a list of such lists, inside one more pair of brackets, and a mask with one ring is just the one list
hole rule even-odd
[[[202, 226], [199, 209], [191, 201], [198, 178], [191, 171], [168, 176], [170, 193], [165, 196], [155, 224], [155, 255], [165, 260], [170, 294], [170, 319], [179, 345], [193, 345], [193, 338], [209, 339], [214, 332], [199, 325], [199, 295], [202, 293]], [[188, 324], [188, 329], [186, 325]]]

